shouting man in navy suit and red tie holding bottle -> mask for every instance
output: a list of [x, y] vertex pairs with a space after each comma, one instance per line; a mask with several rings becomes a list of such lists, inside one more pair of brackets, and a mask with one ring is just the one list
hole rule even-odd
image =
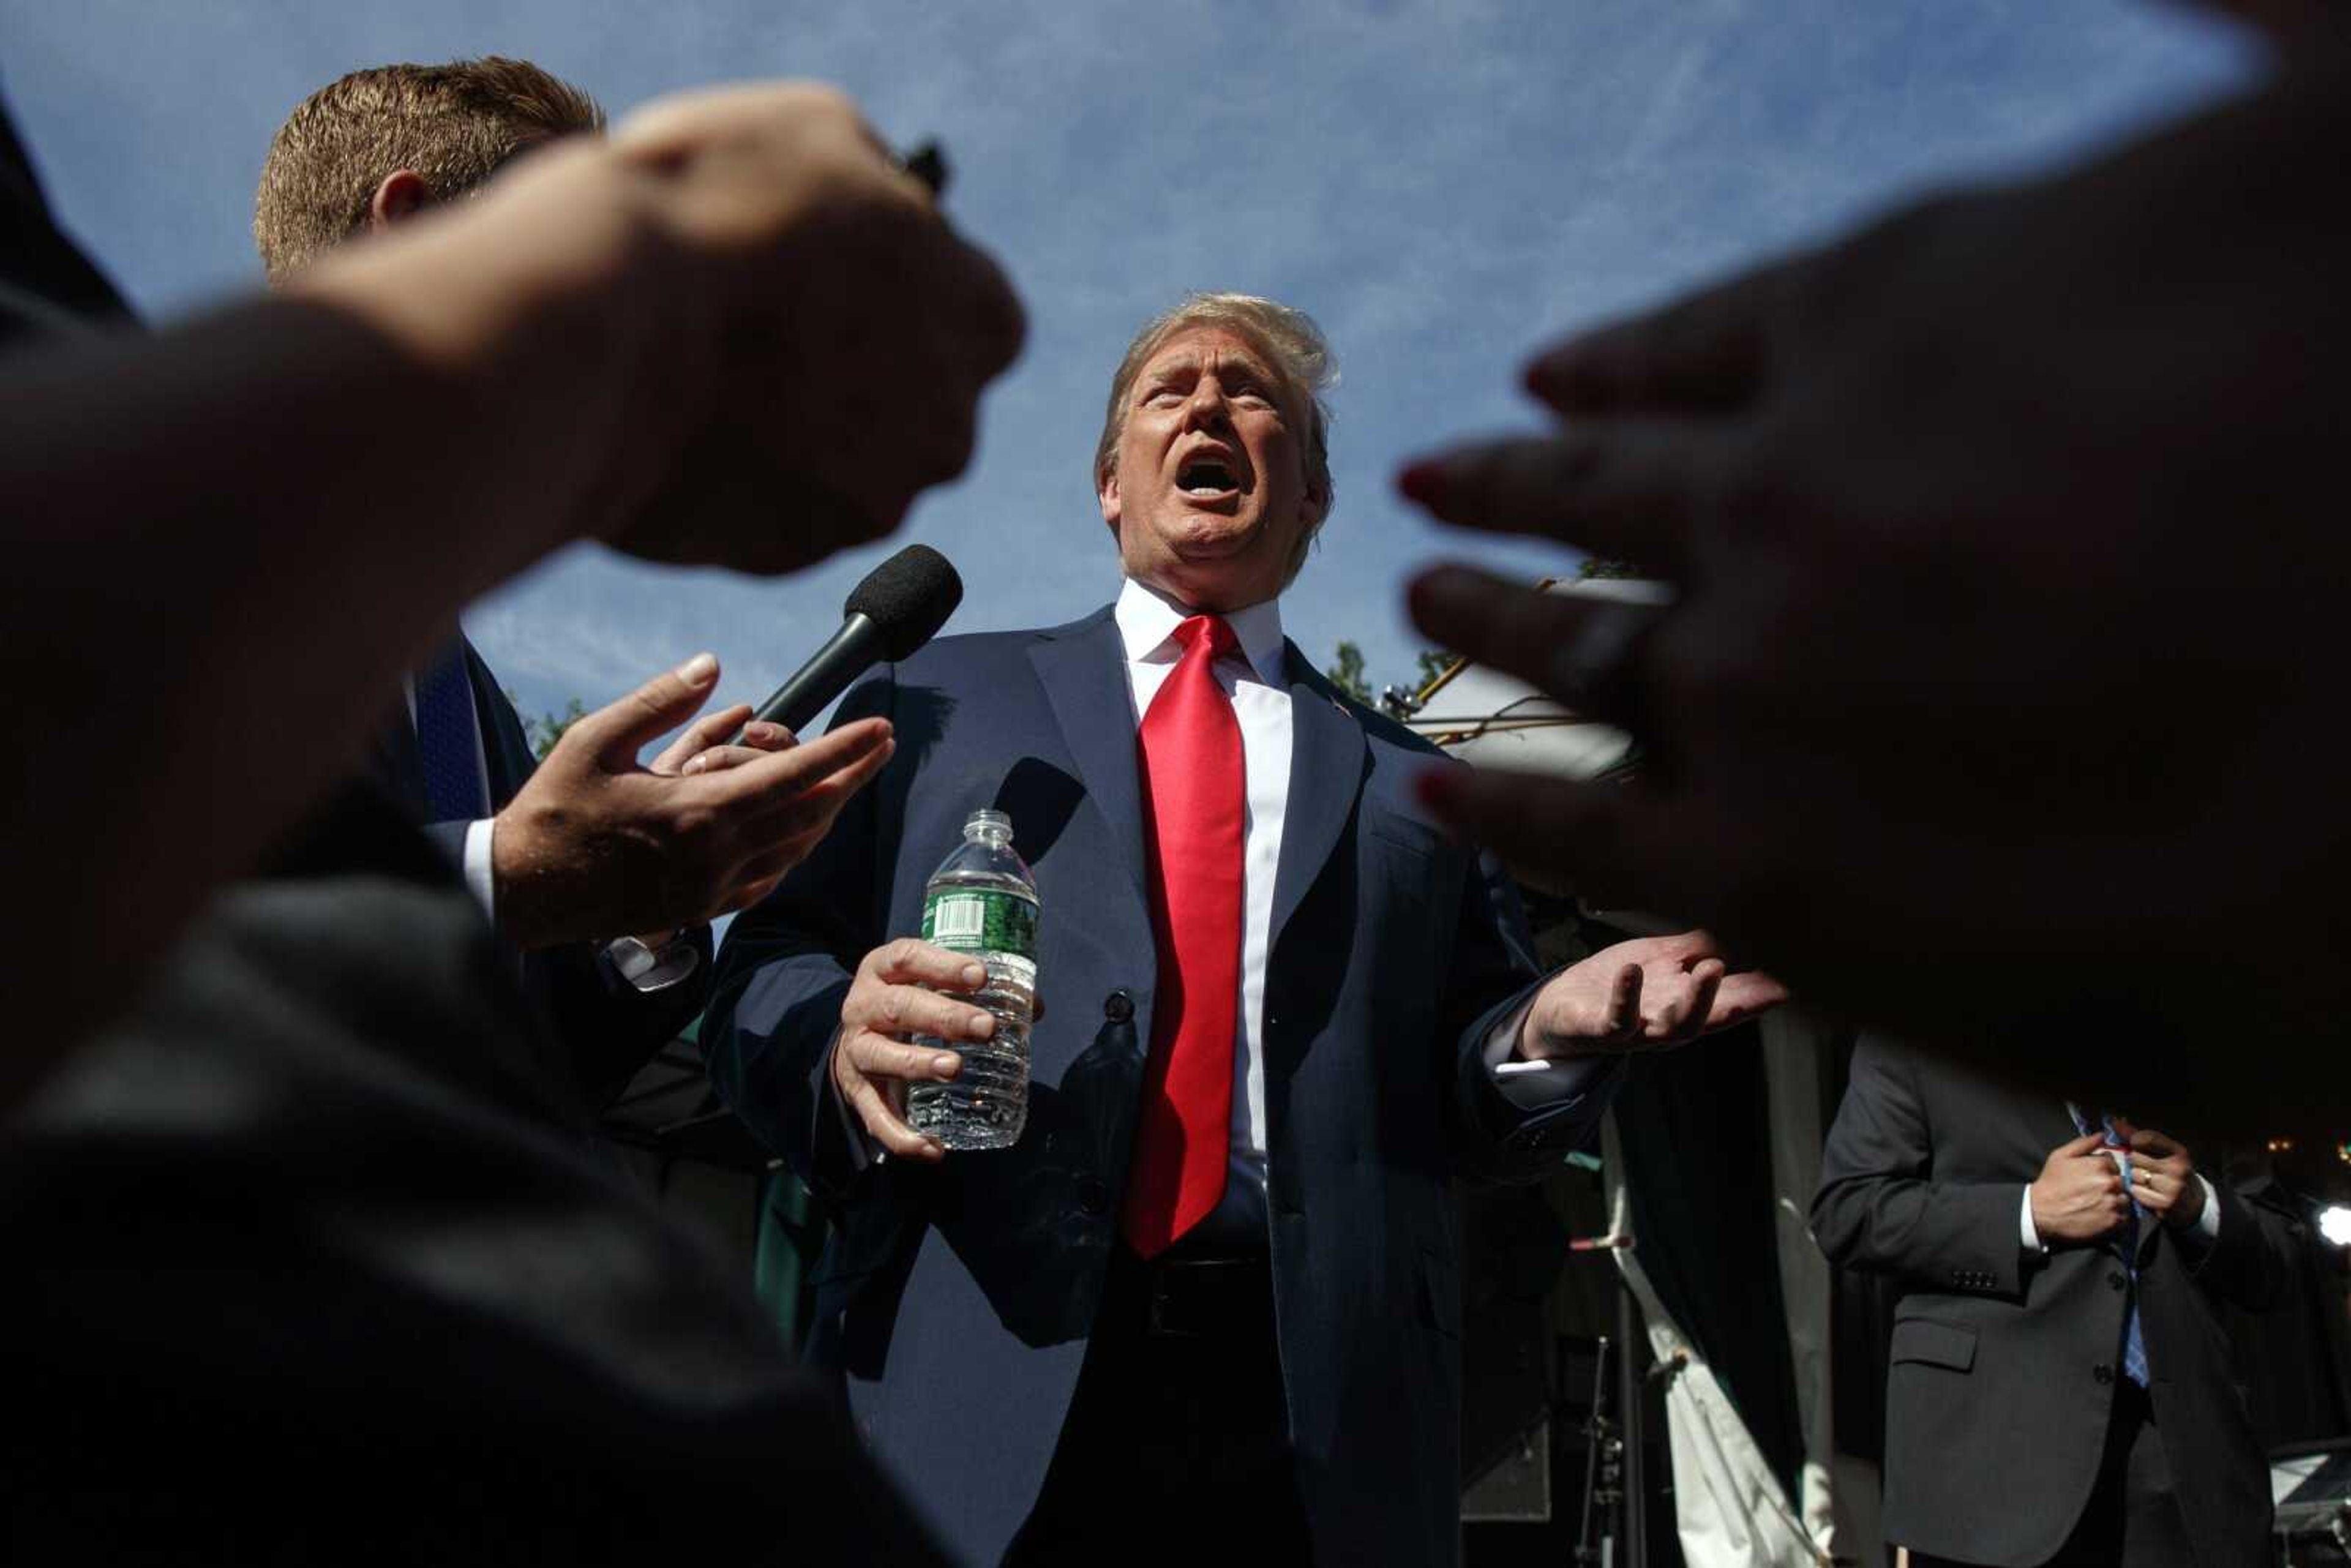
[[[1418, 806], [1432, 748], [1284, 639], [1326, 376], [1272, 301], [1150, 322], [1096, 454], [1117, 602], [851, 691], [898, 755], [719, 959], [712, 1079], [835, 1206], [811, 1354], [973, 1561], [1451, 1561], [1455, 1173], [1533, 1178], [1613, 1053], [1777, 997], [1702, 933], [1538, 980], [1507, 879]], [[903, 1093], [959, 1058], [910, 1037], [992, 1018], [907, 933], [980, 806], [1051, 1011], [1018, 1145], [950, 1157]]]

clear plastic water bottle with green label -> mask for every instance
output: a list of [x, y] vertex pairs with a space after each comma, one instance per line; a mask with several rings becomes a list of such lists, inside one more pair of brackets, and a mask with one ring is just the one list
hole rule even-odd
[[1013, 820], [973, 811], [964, 842], [922, 893], [922, 940], [987, 964], [971, 1001], [997, 1016], [987, 1039], [929, 1039], [955, 1051], [952, 1084], [912, 1084], [907, 1121], [950, 1150], [1004, 1150], [1027, 1124], [1027, 1032], [1037, 1013], [1037, 879], [1013, 851]]

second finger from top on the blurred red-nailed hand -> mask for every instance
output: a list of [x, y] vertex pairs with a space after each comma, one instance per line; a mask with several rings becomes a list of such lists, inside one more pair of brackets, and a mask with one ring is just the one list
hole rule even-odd
[[1709, 430], [1608, 421], [1455, 447], [1404, 468], [1396, 489], [1453, 527], [1538, 534], [1674, 576], [1716, 451]]

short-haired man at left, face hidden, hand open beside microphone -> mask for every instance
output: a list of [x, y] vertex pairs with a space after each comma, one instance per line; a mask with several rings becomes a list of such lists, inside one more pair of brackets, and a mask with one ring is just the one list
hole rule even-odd
[[[254, 244], [270, 282], [287, 284], [350, 240], [482, 188], [534, 148], [602, 129], [595, 99], [520, 59], [350, 71], [303, 99], [270, 139]], [[741, 705], [705, 715], [651, 769], [637, 769], [637, 745], [686, 719], [715, 686], [715, 668], [703, 675], [691, 693], [656, 677], [560, 743], [541, 771], [513, 701], [451, 630], [407, 679], [404, 715], [376, 736], [376, 780], [428, 825], [498, 933], [522, 950], [524, 992], [564, 1046], [581, 1114], [609, 1103], [703, 1009], [708, 917], [762, 896], [790, 851], [813, 839], [809, 827], [823, 827], [813, 813], [797, 825], [776, 818], [778, 799], [750, 797], [734, 816], [766, 818], [769, 832], [724, 835], [719, 853], [675, 832], [654, 780], [679, 776], [750, 717]], [[658, 712], [644, 708], [651, 691]], [[609, 759], [583, 755], [614, 738]], [[790, 738], [755, 724], [745, 741], [696, 766]], [[614, 773], [635, 776], [635, 788], [611, 790]], [[628, 844], [658, 844], [658, 865], [625, 853]]]

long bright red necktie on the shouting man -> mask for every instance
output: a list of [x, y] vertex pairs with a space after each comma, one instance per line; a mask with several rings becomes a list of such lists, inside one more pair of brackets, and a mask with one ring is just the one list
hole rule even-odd
[[1237, 644], [1215, 616], [1192, 616], [1176, 628], [1176, 642], [1183, 658], [1152, 698], [1140, 738], [1159, 992], [1119, 1229], [1145, 1258], [1166, 1251], [1225, 1197], [1241, 999], [1248, 783], [1241, 724], [1213, 668]]

